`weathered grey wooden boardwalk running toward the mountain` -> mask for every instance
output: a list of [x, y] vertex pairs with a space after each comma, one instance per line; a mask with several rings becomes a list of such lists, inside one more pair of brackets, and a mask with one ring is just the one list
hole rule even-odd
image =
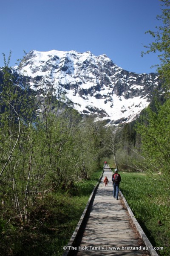
[[[105, 176], [109, 180], [108, 186], [103, 183]], [[97, 189], [85, 231], [79, 244], [79, 250], [73, 255], [150, 255], [141, 250], [141, 240], [133, 224], [130, 224], [132, 221], [122, 198], [120, 196], [119, 200], [113, 198], [111, 177], [110, 168], [105, 167], [102, 181]], [[113, 247], [120, 247], [120, 249]], [[125, 250], [125, 247], [130, 248]]]

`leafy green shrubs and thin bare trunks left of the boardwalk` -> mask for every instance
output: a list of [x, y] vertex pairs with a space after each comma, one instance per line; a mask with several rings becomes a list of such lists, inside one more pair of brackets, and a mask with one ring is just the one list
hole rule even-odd
[[39, 198], [71, 190], [96, 170], [105, 128], [58, 102], [48, 87], [35, 96], [15, 84], [8, 67], [2, 73], [0, 218], [28, 223]]

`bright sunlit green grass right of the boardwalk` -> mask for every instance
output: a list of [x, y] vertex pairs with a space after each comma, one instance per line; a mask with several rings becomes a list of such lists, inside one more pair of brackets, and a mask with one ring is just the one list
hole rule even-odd
[[120, 190], [160, 256], [170, 255], [170, 189], [159, 175], [120, 172]]

